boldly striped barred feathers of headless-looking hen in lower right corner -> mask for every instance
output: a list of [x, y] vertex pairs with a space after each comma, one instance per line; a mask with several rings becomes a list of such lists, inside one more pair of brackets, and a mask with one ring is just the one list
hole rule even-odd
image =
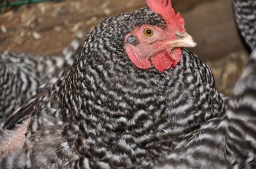
[[157, 169], [256, 168], [256, 50], [234, 88], [226, 115], [213, 118], [188, 135]]

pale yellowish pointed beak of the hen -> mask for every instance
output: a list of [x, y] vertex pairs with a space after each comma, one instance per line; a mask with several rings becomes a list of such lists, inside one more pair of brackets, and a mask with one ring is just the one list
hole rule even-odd
[[169, 41], [165, 45], [171, 45], [171, 48], [176, 48], [176, 47], [194, 48], [196, 46], [196, 42], [193, 37], [191, 37], [188, 33], [185, 33], [185, 35], [181, 36], [180, 39]]

